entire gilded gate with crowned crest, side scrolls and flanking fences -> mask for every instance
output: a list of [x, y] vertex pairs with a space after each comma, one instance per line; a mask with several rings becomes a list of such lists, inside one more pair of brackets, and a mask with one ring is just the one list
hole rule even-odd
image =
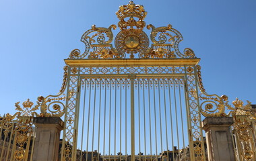
[[[93, 25], [83, 34], [81, 41], [86, 49], [83, 53], [73, 50], [65, 60], [67, 66], [58, 95], [40, 96], [34, 107], [29, 100], [23, 103], [24, 108], [15, 103], [17, 113], [0, 117], [0, 160], [37, 160], [34, 156], [41, 149], [34, 143], [34, 117], [64, 117], [61, 160], [218, 160], [222, 151], [218, 143], [226, 142], [228, 148], [224, 152], [230, 153], [230, 158], [255, 160], [256, 108], [253, 110], [249, 101], [243, 105], [238, 99], [232, 107], [226, 95], [208, 95], [201, 80], [200, 59], [189, 48], [180, 52], [183, 37], [171, 25], [147, 25], [151, 30], [148, 36], [143, 30], [147, 12], [142, 5], [130, 1], [120, 6], [116, 14], [120, 20], [117, 36], [112, 31], [116, 25]], [[111, 44], [114, 38], [115, 46]], [[40, 114], [36, 113], [38, 107]], [[203, 122], [208, 148], [201, 115], [217, 120], [211, 122], [215, 131], [211, 131], [210, 123], [206, 125], [209, 118]], [[228, 117], [224, 119], [230, 124], [223, 125], [222, 119], [223, 128], [219, 131], [216, 127], [220, 118], [216, 117]], [[62, 128], [62, 124], [49, 126], [59, 131]], [[41, 136], [36, 142], [47, 141], [42, 155], [51, 146], [55, 151], [52, 159], [56, 160], [60, 132], [53, 131], [54, 144], [44, 137], [40, 140]], [[216, 131], [224, 135], [214, 136]], [[37, 151], [33, 156], [34, 146]]]

